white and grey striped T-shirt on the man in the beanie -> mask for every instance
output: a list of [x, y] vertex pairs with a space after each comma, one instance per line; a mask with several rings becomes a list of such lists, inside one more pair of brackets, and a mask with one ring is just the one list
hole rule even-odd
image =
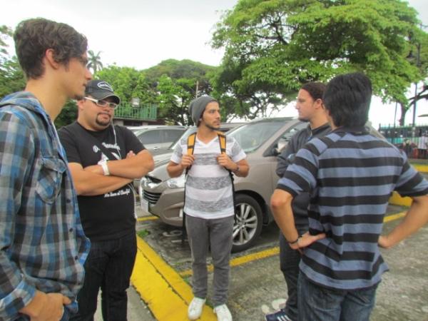
[[[180, 163], [183, 154], [187, 154], [187, 138], [176, 146], [171, 161]], [[234, 138], [226, 136], [226, 154], [237, 163], [246, 155]], [[232, 216], [232, 182], [228, 170], [218, 165], [220, 155], [218, 137], [205, 144], [195, 139], [193, 150], [195, 162], [189, 170], [185, 185], [186, 215], [195, 218], [226, 218]]]

